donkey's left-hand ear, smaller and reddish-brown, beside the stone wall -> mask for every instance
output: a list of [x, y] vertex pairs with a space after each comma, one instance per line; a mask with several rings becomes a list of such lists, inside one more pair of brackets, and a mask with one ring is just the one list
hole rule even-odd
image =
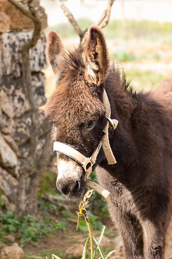
[[49, 32], [47, 42], [47, 57], [52, 66], [53, 72], [56, 74], [60, 69], [60, 64], [64, 60], [65, 49], [61, 38], [54, 31]]

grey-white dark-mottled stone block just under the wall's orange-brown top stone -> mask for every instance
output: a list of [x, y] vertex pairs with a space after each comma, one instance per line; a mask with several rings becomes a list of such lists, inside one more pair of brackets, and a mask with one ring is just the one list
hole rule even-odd
[[[21, 47], [31, 37], [32, 32], [10, 32], [0, 35], [0, 78], [8, 75], [21, 76]], [[42, 33], [36, 46], [30, 51], [32, 72], [40, 72], [41, 69], [46, 67], [45, 48], [46, 39], [44, 33]], [[5, 81], [7, 85], [10, 85], [9, 80], [7, 77]]]

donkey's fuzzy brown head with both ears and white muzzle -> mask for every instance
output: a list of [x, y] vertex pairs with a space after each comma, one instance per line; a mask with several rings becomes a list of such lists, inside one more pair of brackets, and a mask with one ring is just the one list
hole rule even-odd
[[[56, 75], [56, 89], [44, 108], [54, 125], [53, 137], [90, 157], [106, 124], [102, 95], [109, 60], [104, 35], [91, 27], [82, 55], [77, 50], [65, 52], [60, 37], [51, 31], [47, 56]], [[78, 198], [85, 172], [71, 158], [57, 156], [56, 185], [67, 198]]]

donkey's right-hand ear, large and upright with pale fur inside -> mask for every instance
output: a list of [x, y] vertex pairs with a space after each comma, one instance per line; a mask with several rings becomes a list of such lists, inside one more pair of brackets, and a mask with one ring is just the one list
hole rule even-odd
[[84, 48], [85, 78], [89, 83], [100, 85], [106, 78], [109, 65], [106, 41], [97, 26], [90, 28], [90, 34]]

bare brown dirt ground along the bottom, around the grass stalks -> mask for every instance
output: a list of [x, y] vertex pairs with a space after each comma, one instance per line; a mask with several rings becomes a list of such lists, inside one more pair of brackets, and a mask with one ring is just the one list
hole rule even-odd
[[[109, 258], [124, 259], [124, 253], [122, 248], [122, 240], [118, 235], [113, 225], [107, 227], [109, 230], [108, 236], [104, 236], [101, 243], [101, 248], [104, 253], [107, 253], [113, 249], [118, 252]], [[94, 236], [98, 240], [98, 232], [94, 233]], [[70, 225], [67, 231], [57, 231], [49, 237], [44, 237], [41, 242], [36, 245], [27, 245], [24, 247], [26, 259], [51, 259], [51, 255], [54, 253], [63, 259], [81, 258], [83, 251], [83, 245], [87, 239], [87, 233], [76, 231], [76, 225]], [[172, 259], [172, 222], [168, 231], [167, 249], [165, 259]]]

